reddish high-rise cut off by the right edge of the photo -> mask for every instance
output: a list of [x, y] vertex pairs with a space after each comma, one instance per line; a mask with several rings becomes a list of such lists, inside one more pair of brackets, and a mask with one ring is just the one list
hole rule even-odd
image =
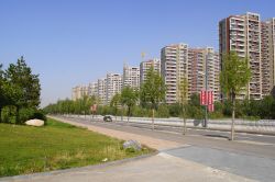
[[262, 22], [262, 92], [271, 94], [275, 87], [275, 18]]

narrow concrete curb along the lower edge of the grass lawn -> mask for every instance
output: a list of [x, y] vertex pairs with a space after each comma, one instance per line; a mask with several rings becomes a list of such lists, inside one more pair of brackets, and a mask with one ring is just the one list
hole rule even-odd
[[152, 156], [156, 156], [158, 152], [160, 151], [154, 151], [147, 155], [142, 155], [142, 156], [133, 157], [133, 158], [127, 158], [127, 159], [121, 159], [121, 160], [116, 160], [116, 161], [110, 161], [110, 162], [105, 162], [105, 163], [99, 163], [99, 164], [94, 164], [94, 166], [75, 167], [75, 168], [63, 169], [63, 170], [37, 172], [37, 173], [22, 174], [22, 175], [14, 175], [14, 177], [3, 177], [3, 178], [0, 178], [0, 181], [3, 182], [3, 181], [14, 181], [14, 180], [31, 180], [33, 178], [58, 175], [58, 174], [64, 174], [64, 173], [73, 172], [73, 171], [86, 171], [86, 170], [101, 169], [106, 167], [118, 166], [118, 164], [122, 164], [127, 162], [132, 162], [135, 160], [141, 160], [144, 158], [148, 158]]

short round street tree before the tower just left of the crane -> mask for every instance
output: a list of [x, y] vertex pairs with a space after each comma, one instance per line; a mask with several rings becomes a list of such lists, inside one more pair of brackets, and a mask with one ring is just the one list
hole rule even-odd
[[130, 88], [130, 87], [125, 87], [122, 89], [121, 91], [121, 103], [123, 105], [127, 105], [128, 107], [128, 122], [129, 122], [129, 117], [132, 111], [132, 107], [136, 104], [139, 100], [139, 93]]

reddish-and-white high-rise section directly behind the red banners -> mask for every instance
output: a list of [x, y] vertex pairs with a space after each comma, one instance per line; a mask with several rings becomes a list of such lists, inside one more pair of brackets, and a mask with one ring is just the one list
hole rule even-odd
[[219, 53], [212, 47], [188, 49], [188, 95], [201, 90], [213, 91], [215, 101], [220, 99]]

